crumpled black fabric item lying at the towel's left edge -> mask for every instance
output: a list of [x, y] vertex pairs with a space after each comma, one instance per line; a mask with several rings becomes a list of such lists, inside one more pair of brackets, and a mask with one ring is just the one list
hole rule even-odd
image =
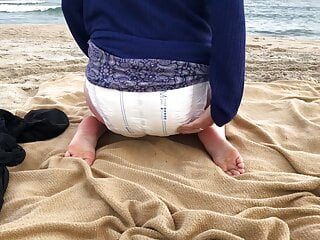
[[24, 160], [26, 152], [18, 143], [54, 138], [69, 126], [67, 115], [58, 109], [32, 110], [24, 119], [0, 109], [0, 210], [8, 187], [8, 167]]

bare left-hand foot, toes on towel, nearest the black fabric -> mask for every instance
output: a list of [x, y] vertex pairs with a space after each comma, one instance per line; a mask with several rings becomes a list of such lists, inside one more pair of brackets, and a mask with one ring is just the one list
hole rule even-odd
[[107, 130], [106, 126], [94, 116], [84, 118], [72, 138], [65, 157], [79, 157], [92, 165], [96, 159], [98, 139]]

